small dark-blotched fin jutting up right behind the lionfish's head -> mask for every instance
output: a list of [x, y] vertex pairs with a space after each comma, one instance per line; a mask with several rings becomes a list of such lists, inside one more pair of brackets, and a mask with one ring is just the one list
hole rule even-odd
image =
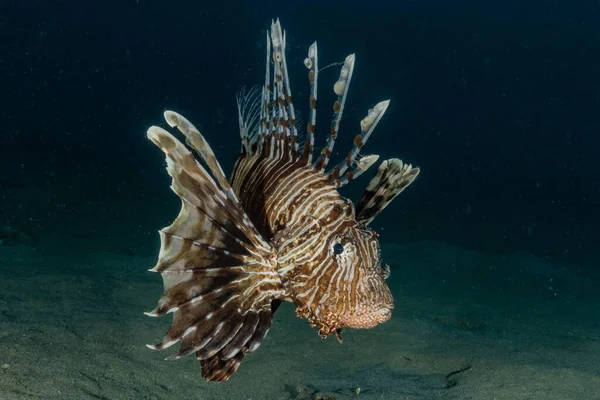
[[370, 224], [415, 180], [419, 172], [419, 168], [397, 158], [383, 161], [356, 207], [356, 219], [364, 225]]

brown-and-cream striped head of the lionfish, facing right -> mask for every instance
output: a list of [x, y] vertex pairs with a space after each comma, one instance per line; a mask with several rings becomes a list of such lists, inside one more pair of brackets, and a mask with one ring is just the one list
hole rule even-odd
[[372, 328], [390, 319], [394, 299], [378, 234], [356, 220], [352, 203], [338, 204], [318, 221], [301, 225], [301, 234], [292, 233], [288, 245], [279, 247], [280, 260], [295, 255], [293, 265], [281, 268], [289, 270], [282, 281], [298, 315], [321, 335]]

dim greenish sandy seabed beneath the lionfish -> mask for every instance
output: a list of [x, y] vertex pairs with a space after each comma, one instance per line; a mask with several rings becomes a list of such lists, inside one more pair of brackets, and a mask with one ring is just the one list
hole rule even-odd
[[321, 340], [291, 305], [226, 383], [151, 351], [155, 257], [0, 247], [0, 399], [600, 399], [600, 276], [532, 255], [383, 245], [392, 319]]

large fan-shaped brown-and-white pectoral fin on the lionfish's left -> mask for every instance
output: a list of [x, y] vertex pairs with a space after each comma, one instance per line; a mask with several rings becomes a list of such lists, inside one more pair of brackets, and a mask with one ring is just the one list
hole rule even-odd
[[185, 118], [165, 113], [209, 172], [166, 130], [153, 126], [148, 138], [167, 156], [167, 171], [182, 208], [160, 231], [158, 263], [164, 292], [149, 316], [173, 313], [162, 341], [181, 342], [169, 359], [195, 353], [207, 380], [226, 380], [245, 354], [258, 348], [283, 294], [274, 250], [257, 232], [200, 132]]

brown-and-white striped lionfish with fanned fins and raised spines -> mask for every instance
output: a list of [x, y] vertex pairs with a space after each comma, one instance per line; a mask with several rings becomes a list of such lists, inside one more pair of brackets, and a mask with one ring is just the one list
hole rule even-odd
[[[267, 32], [264, 86], [238, 95], [241, 153], [227, 180], [202, 134], [181, 115], [164, 117], [186, 138], [204, 164], [166, 130], [152, 126], [148, 138], [165, 154], [179, 216], [160, 233], [157, 265], [164, 283], [156, 308], [173, 313], [173, 323], [152, 349], [181, 342], [167, 359], [195, 353], [202, 376], [227, 380], [265, 338], [284, 301], [318, 328], [322, 337], [343, 328], [371, 328], [391, 317], [394, 300], [385, 282], [373, 219], [419, 173], [399, 159], [383, 161], [358, 206], [338, 188], [361, 175], [377, 159], [359, 151], [388, 108], [382, 101], [360, 122], [352, 150], [326, 171], [352, 72], [346, 57], [333, 86], [337, 100], [323, 150], [313, 160], [316, 130], [317, 43], [304, 64], [310, 83], [309, 115], [302, 146], [279, 20]], [[271, 67], [273, 81], [271, 83]], [[250, 100], [249, 100], [250, 98]]]

